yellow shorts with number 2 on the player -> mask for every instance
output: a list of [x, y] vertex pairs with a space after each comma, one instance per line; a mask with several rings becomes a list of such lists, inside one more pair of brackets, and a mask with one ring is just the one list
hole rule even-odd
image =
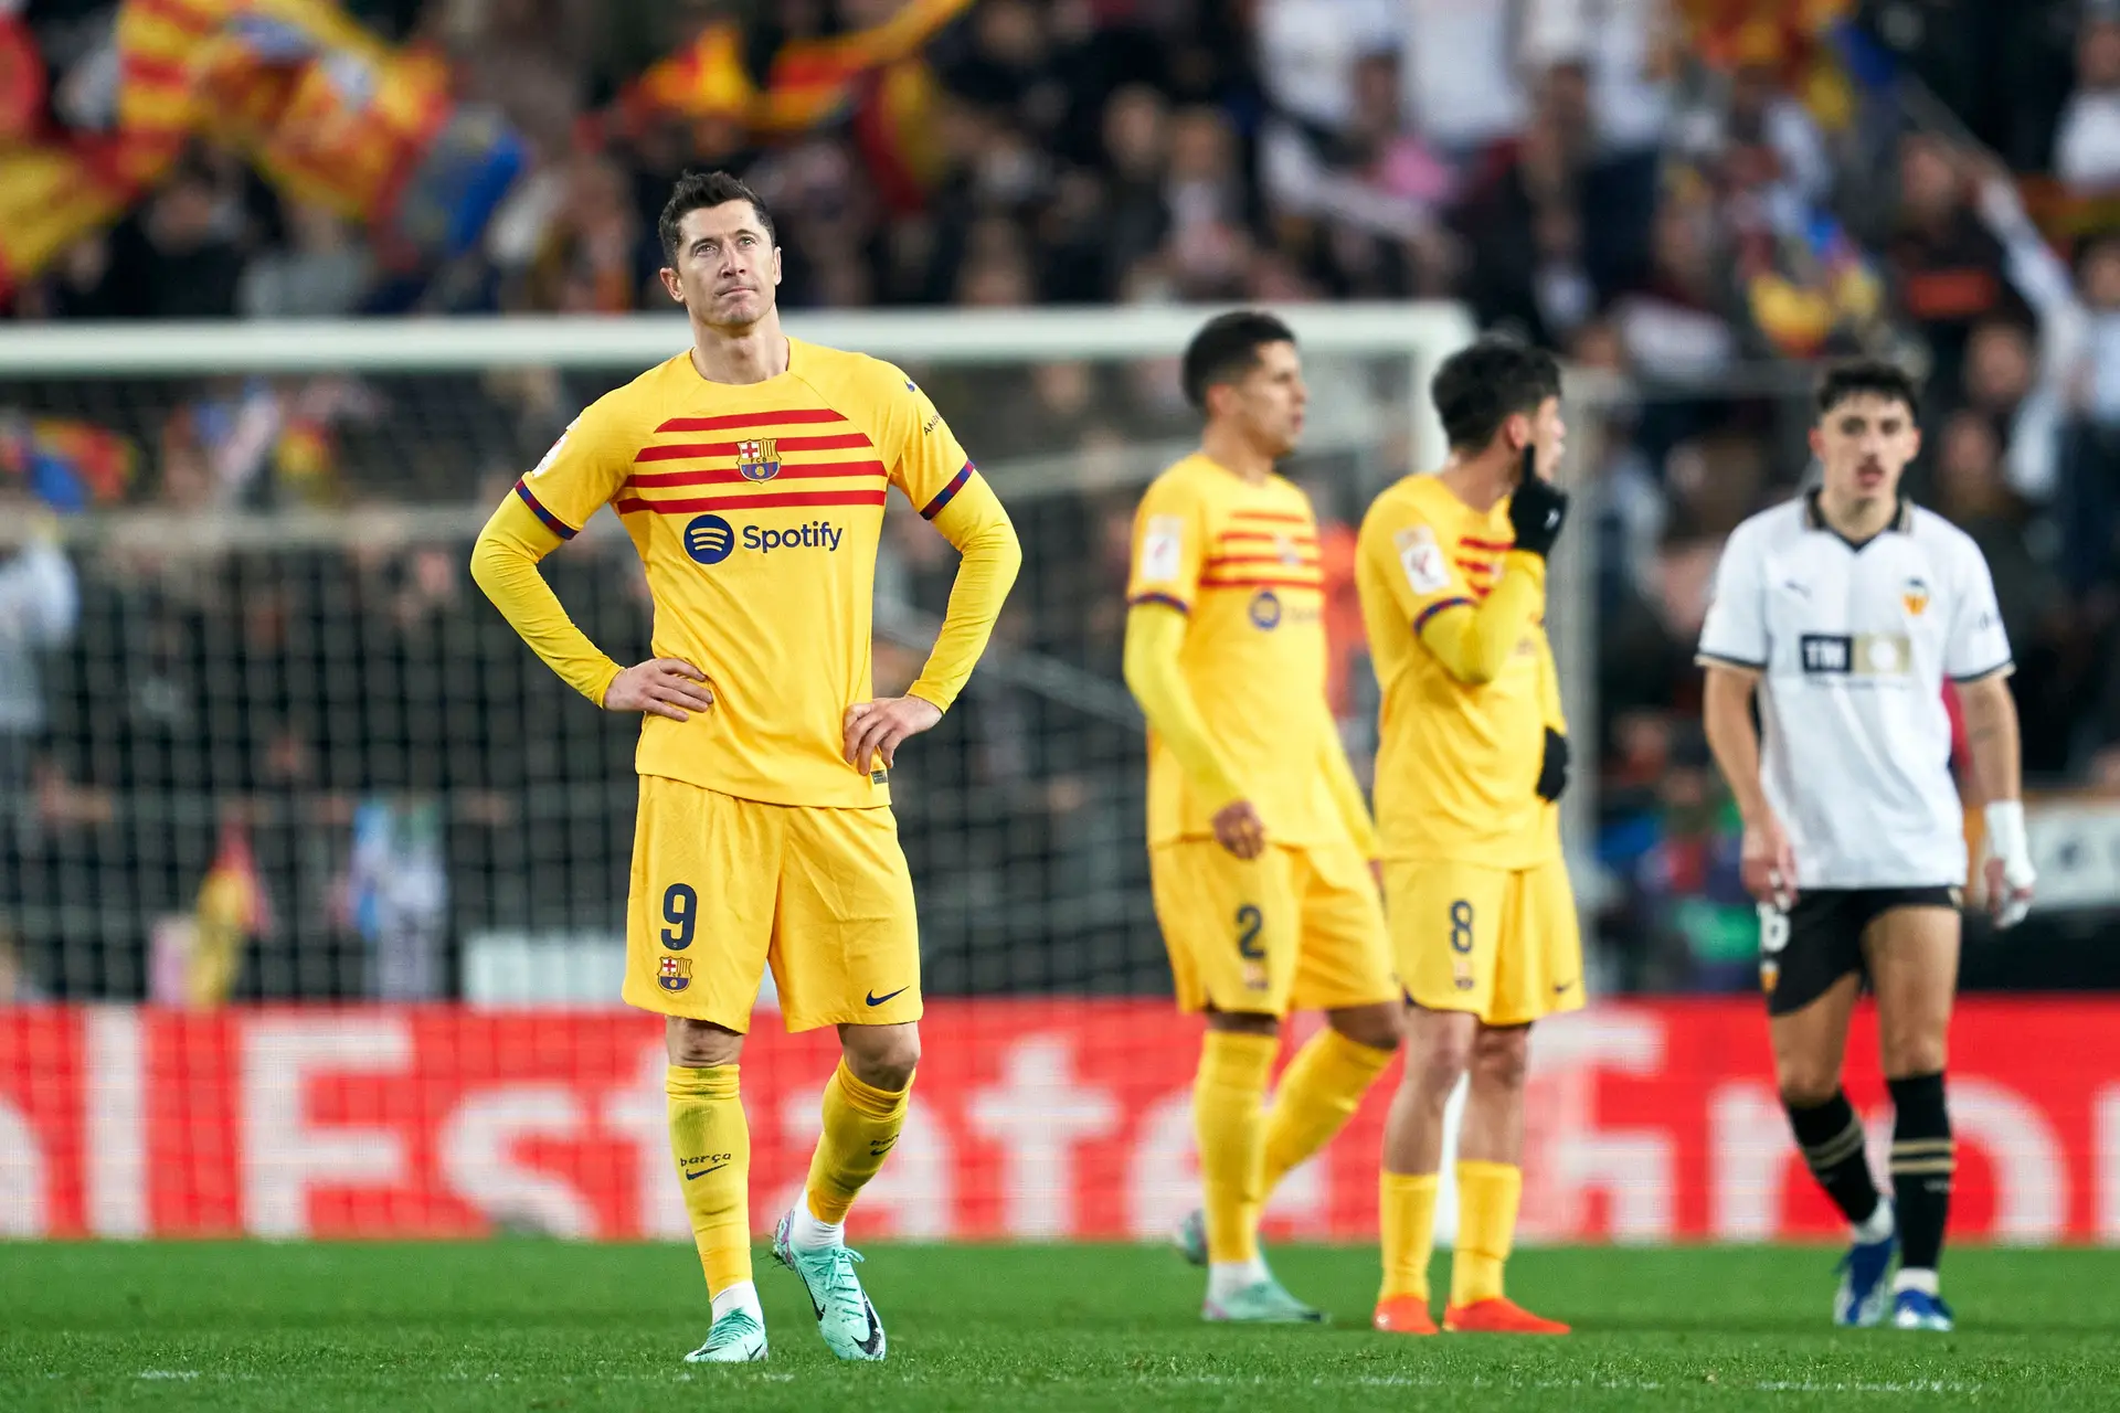
[[1242, 860], [1213, 839], [1149, 849], [1155, 922], [1183, 1010], [1287, 1015], [1395, 1002], [1370, 860], [1355, 845], [1268, 847]]

